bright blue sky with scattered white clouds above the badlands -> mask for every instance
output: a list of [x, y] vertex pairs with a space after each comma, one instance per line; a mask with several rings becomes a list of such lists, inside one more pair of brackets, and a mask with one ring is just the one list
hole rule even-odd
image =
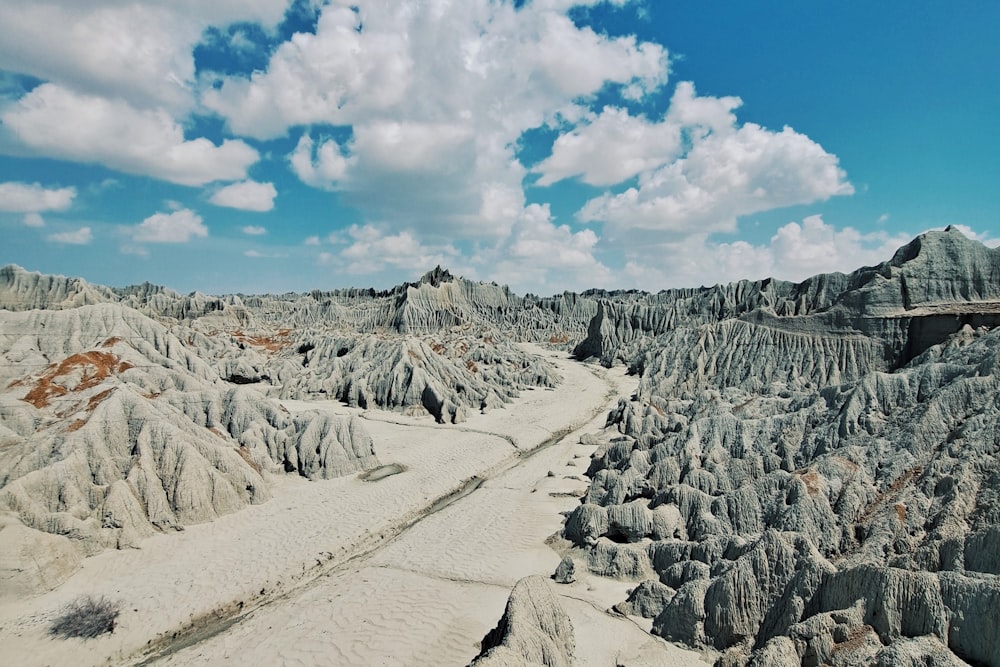
[[0, 264], [554, 294], [1000, 239], [989, 0], [0, 0]]

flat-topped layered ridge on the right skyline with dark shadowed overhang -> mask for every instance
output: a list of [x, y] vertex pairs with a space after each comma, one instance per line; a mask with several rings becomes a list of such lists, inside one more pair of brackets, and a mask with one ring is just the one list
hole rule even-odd
[[[898, 368], [969, 325], [1000, 325], [1000, 253], [949, 227], [923, 234], [886, 262], [801, 283], [765, 279], [601, 300], [574, 348], [605, 365], [632, 361], [652, 339], [743, 320], [777, 331], [853, 336]], [[711, 326], [707, 327], [712, 330]], [[711, 335], [711, 334], [708, 334]]]

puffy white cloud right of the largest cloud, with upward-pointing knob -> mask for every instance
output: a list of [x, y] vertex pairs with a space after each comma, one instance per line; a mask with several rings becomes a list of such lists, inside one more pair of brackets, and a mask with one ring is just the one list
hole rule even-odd
[[789, 127], [738, 125], [734, 98], [698, 98], [679, 85], [664, 120], [690, 142], [682, 157], [639, 174], [638, 186], [588, 201], [581, 220], [612, 233], [683, 236], [733, 231], [740, 216], [853, 193], [835, 155]]

